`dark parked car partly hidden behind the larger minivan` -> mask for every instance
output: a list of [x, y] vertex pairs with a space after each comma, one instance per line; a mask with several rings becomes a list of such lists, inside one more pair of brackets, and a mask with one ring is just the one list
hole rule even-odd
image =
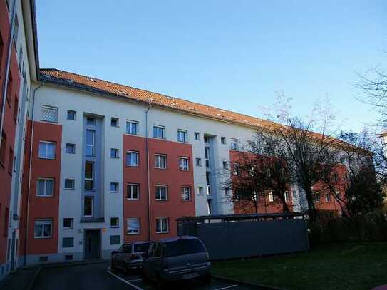
[[117, 251], [113, 251], [111, 266], [122, 269], [125, 273], [130, 269], [143, 266], [143, 255], [148, 252], [152, 242], [130, 242], [123, 244]]

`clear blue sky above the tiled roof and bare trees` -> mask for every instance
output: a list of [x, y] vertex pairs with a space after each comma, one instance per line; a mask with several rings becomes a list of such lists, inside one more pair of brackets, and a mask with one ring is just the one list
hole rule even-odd
[[357, 73], [387, 68], [386, 1], [37, 0], [41, 68], [262, 117], [276, 92], [304, 115], [329, 95], [345, 130], [376, 113]]

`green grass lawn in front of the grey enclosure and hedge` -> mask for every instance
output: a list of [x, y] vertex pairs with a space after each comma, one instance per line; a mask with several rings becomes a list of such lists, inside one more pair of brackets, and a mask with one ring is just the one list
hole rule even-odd
[[387, 242], [326, 244], [311, 252], [212, 263], [212, 274], [285, 289], [387, 284]]

